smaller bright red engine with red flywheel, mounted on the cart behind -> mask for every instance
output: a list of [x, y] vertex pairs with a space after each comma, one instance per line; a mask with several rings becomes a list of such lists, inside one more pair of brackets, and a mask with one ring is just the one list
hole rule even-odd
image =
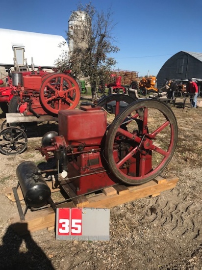
[[61, 109], [76, 108], [80, 100], [77, 82], [64, 73], [13, 72], [12, 85], [16, 90], [9, 112], [18, 110], [24, 115], [40, 118], [40, 115], [57, 115]]

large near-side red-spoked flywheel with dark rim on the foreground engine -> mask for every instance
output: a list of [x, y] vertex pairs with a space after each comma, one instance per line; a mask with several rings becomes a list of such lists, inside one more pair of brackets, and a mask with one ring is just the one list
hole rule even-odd
[[109, 126], [105, 158], [110, 171], [129, 185], [158, 176], [173, 157], [177, 121], [168, 106], [157, 100], [137, 100]]

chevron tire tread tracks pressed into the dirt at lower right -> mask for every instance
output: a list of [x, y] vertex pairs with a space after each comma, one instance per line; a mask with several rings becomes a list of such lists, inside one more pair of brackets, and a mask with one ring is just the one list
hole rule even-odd
[[202, 240], [200, 199], [193, 202], [177, 188], [166, 192], [170, 192], [170, 195], [160, 195], [150, 201], [146, 219], [158, 223], [173, 237], [187, 241]]

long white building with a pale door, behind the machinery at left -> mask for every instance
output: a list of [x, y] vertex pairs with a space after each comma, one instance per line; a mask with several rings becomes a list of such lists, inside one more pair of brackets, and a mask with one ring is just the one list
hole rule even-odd
[[[69, 52], [66, 40], [59, 35], [0, 28], [0, 38], [0, 79], [13, 67], [14, 57], [19, 65], [24, 65], [25, 59], [30, 65], [33, 57], [35, 67], [50, 69], [63, 50]], [[59, 47], [60, 43], [64, 46]]]

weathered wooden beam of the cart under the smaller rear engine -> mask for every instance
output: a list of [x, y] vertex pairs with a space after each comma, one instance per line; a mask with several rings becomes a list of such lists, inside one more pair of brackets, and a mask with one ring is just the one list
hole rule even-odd
[[27, 123], [27, 122], [46, 122], [46, 121], [58, 121], [58, 117], [53, 117], [51, 115], [40, 115], [39, 118], [36, 116], [28, 115], [25, 116], [22, 113], [9, 112], [6, 113], [7, 123]]

